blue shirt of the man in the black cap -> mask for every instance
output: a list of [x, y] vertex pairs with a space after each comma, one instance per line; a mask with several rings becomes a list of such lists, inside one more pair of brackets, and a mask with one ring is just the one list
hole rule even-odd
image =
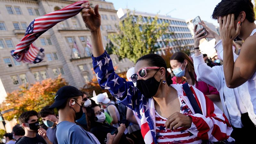
[[81, 126], [68, 121], [57, 124], [56, 137], [59, 144], [96, 144], [92, 136]]

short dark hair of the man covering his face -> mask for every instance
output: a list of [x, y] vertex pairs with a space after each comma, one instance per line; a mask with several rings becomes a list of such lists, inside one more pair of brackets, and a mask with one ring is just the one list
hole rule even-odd
[[235, 20], [237, 19], [240, 12], [244, 11], [245, 18], [250, 21], [255, 21], [255, 14], [253, 10], [253, 4], [251, 0], [221, 0], [216, 5], [212, 13], [212, 19], [217, 19], [219, 16], [225, 16], [228, 14], [235, 14]]

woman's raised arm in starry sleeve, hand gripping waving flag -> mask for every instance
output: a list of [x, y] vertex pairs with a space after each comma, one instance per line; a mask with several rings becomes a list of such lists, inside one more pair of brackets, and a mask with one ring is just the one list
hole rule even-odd
[[102, 89], [108, 91], [120, 100], [124, 105], [139, 112], [142, 108], [142, 95], [132, 82], [127, 82], [124, 78], [119, 77], [113, 68], [112, 60], [103, 48], [100, 33], [100, 14], [98, 5], [94, 10], [89, 3], [82, 4], [82, 16], [87, 28], [91, 31], [93, 56], [92, 64], [99, 85]]

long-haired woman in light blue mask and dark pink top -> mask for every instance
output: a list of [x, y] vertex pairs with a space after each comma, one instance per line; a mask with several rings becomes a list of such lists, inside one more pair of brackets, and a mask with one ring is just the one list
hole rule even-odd
[[192, 60], [184, 52], [176, 52], [170, 58], [170, 64], [174, 77], [172, 78], [173, 84], [191, 84], [198, 90], [204, 93], [210, 98], [214, 104], [216, 104], [222, 111], [222, 105], [220, 101], [220, 93], [216, 88], [204, 82], [198, 82], [196, 80], [195, 68]]

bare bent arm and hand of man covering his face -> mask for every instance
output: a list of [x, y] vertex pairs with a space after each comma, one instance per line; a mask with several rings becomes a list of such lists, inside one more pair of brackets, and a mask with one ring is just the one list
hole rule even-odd
[[234, 14], [220, 17], [220, 36], [223, 45], [223, 69], [226, 84], [236, 88], [248, 81], [256, 70], [256, 36], [248, 37], [242, 45], [239, 57], [234, 62], [232, 42], [240, 33], [241, 21], [234, 27]]

